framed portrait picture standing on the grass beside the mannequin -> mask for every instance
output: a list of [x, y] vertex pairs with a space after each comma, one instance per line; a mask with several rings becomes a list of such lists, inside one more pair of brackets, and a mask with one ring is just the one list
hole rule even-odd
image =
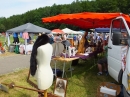
[[54, 94], [60, 97], [66, 97], [68, 80], [60, 77], [56, 77]]

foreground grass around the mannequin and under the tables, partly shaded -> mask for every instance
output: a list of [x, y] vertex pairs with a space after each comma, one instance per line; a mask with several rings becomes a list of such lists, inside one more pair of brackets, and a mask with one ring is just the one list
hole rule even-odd
[[[51, 63], [54, 68], [53, 62]], [[77, 66], [74, 66], [72, 77], [67, 70], [70, 66], [70, 62], [66, 64], [67, 73], [67, 91], [66, 97], [96, 97], [97, 87], [101, 82], [115, 82], [110, 76], [97, 76], [97, 65], [94, 64], [93, 59], [80, 60]], [[62, 62], [58, 62], [57, 68], [62, 69]], [[33, 88], [26, 79], [29, 69], [19, 70], [10, 74], [0, 76], [0, 82], [10, 83], [15, 82], [16, 85]], [[66, 77], [65, 77], [66, 78]], [[32, 80], [33, 77], [30, 77]], [[36, 83], [36, 80], [32, 80]], [[55, 80], [53, 85], [48, 89], [48, 92], [53, 92]], [[33, 88], [34, 89], [34, 88]], [[0, 91], [0, 97], [37, 97], [37, 92], [13, 88], [9, 89], [9, 93]]]

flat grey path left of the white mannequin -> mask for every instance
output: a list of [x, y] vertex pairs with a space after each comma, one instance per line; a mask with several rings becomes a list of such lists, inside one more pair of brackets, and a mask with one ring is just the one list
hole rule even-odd
[[30, 55], [13, 55], [0, 57], [0, 75], [13, 72], [18, 69], [29, 68]]

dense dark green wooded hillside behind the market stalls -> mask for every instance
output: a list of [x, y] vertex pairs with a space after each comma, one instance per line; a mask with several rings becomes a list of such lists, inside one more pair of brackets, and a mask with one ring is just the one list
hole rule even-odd
[[41, 19], [58, 14], [79, 13], [79, 12], [122, 12], [130, 13], [129, 0], [76, 0], [71, 4], [63, 4], [40, 7], [35, 10], [27, 11], [21, 15], [13, 15], [9, 18], [0, 17], [0, 32], [6, 31], [13, 27], [33, 23], [47, 29], [71, 27], [73, 30], [78, 29], [73, 25], [61, 25], [56, 23], [42, 23]]

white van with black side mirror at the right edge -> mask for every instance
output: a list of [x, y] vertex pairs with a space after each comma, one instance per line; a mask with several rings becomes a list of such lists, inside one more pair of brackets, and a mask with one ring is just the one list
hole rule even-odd
[[130, 29], [120, 16], [112, 20], [108, 42], [108, 71], [130, 97]]

